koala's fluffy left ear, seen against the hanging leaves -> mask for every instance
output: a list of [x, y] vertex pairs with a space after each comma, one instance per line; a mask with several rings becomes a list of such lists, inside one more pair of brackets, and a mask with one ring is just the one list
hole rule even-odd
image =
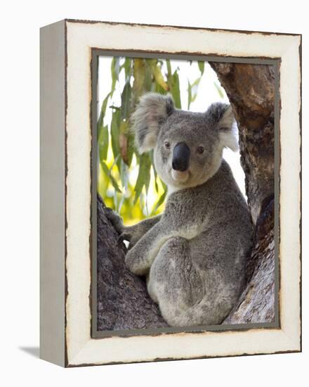
[[132, 117], [132, 129], [139, 153], [155, 148], [160, 125], [174, 110], [173, 99], [169, 95], [148, 93], [142, 96]]

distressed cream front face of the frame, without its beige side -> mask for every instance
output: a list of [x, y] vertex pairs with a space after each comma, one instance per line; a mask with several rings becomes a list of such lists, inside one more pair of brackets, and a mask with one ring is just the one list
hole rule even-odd
[[[301, 36], [65, 20], [65, 365], [301, 350]], [[91, 49], [281, 58], [280, 329], [91, 338]]]

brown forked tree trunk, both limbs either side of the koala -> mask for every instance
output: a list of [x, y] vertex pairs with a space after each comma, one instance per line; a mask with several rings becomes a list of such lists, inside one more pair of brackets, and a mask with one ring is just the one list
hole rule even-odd
[[[223, 324], [275, 320], [274, 69], [271, 65], [210, 63], [228, 94], [239, 129], [246, 194], [255, 224], [247, 282]], [[118, 240], [98, 198], [98, 330], [167, 326], [145, 280], [124, 265]]]

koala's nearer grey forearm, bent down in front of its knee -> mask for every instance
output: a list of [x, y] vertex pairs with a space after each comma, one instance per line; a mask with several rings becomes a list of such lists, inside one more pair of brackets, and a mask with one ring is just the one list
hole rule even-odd
[[147, 274], [160, 248], [170, 237], [162, 222], [157, 222], [126, 254], [126, 266], [134, 274]]

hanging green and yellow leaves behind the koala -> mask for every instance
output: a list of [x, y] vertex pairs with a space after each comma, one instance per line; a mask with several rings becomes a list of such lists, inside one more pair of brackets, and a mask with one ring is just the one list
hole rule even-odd
[[[188, 81], [188, 108], [196, 99], [204, 74], [204, 62], [197, 65], [200, 76], [192, 84]], [[111, 89], [98, 119], [98, 193], [106, 205], [120, 213], [124, 222], [136, 222], [162, 211], [167, 189], [157, 176], [153, 154], [139, 156], [134, 148], [129, 130], [131, 114], [140, 96], [148, 91], [171, 94], [176, 108], [181, 108], [179, 69], [172, 71], [169, 60], [114, 57], [110, 70]], [[119, 106], [109, 106], [117, 94]], [[110, 120], [106, 119], [107, 108], [112, 113]]]

